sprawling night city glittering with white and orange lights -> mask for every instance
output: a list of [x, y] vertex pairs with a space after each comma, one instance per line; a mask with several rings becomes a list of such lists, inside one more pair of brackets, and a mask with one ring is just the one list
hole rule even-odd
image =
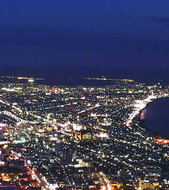
[[147, 104], [168, 97], [168, 86], [19, 79], [0, 83], [0, 189], [169, 188], [169, 141], [142, 124]]

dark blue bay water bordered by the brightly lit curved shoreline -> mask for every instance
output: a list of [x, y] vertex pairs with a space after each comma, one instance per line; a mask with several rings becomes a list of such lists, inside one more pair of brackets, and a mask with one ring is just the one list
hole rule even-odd
[[150, 131], [169, 138], [169, 98], [160, 98], [148, 104], [144, 125]]

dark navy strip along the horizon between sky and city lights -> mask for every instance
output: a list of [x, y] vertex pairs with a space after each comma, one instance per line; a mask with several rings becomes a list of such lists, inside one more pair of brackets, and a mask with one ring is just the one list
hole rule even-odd
[[112, 81], [92, 81], [83, 77], [127, 78], [146, 84], [161, 82], [169, 84], [169, 69], [159, 68], [113, 68], [113, 67], [13, 67], [0, 66], [1, 76], [43, 77], [48, 84], [60, 85], [109, 85]]

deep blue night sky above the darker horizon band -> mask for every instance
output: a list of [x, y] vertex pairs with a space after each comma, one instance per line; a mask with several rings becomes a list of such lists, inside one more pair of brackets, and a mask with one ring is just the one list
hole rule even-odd
[[168, 0], [1, 0], [0, 66], [169, 68]]

